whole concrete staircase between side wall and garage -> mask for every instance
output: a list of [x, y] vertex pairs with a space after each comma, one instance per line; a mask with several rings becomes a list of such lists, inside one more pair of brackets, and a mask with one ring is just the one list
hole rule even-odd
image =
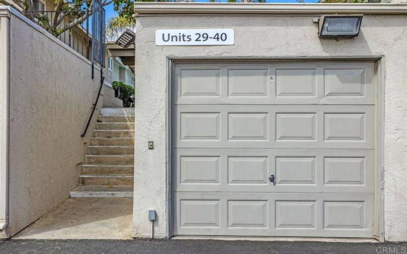
[[134, 108], [103, 108], [72, 198], [132, 197]]

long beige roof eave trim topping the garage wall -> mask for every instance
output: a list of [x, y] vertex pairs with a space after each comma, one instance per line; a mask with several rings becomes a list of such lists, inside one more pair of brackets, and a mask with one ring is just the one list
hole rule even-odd
[[136, 16], [407, 14], [407, 4], [254, 4], [135, 2]]

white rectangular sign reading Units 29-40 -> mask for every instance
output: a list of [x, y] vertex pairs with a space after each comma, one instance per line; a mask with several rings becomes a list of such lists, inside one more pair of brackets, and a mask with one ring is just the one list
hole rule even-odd
[[156, 30], [157, 46], [234, 45], [234, 29], [162, 29]]

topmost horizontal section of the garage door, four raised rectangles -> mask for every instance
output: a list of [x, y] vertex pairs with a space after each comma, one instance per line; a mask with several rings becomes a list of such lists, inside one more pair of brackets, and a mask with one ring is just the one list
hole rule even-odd
[[372, 62], [177, 65], [175, 104], [374, 105]]

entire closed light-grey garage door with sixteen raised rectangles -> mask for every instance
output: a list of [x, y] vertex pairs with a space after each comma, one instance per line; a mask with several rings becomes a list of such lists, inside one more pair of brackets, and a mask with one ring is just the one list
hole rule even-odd
[[176, 65], [174, 235], [372, 237], [373, 69]]

